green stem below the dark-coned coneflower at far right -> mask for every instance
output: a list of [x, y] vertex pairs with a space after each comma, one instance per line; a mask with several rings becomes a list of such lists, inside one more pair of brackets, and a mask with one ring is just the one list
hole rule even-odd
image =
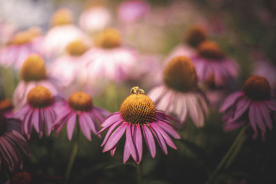
[[221, 168], [224, 166], [226, 161], [227, 161], [226, 167], [230, 166], [230, 163], [232, 163], [232, 161], [235, 159], [235, 156], [237, 156], [237, 153], [242, 148], [242, 144], [245, 141], [245, 136], [244, 136], [245, 131], [246, 131], [246, 126], [244, 126], [242, 130], [239, 131], [239, 134], [237, 134], [235, 141], [229, 148], [228, 152], [226, 152], [224, 157], [221, 159], [221, 161], [219, 162], [219, 165], [217, 165], [217, 168], [213, 171], [212, 174], [210, 174], [210, 177], [206, 182], [206, 184], [213, 182], [213, 179], [215, 178], [215, 176], [217, 176], [217, 173], [219, 172], [219, 170], [221, 170]]

